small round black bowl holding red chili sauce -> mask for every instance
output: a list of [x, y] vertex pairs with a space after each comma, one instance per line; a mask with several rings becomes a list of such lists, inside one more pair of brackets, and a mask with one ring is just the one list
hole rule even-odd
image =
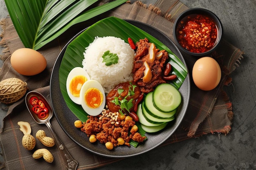
[[[208, 51], [197, 53], [197, 52], [191, 52], [191, 51], [185, 49], [184, 47], [182, 47], [182, 45], [180, 44], [180, 42], [178, 40], [178, 35], [179, 35], [179, 29], [184, 26], [185, 22], [187, 22], [187, 20], [188, 20], [187, 17], [190, 16], [191, 18], [193, 18], [195, 15], [198, 15], [198, 14], [207, 16], [207, 17], [211, 18], [213, 20], [213, 22], [215, 22], [216, 28], [217, 28], [217, 38], [216, 38], [216, 41], [211, 49], [209, 49]], [[202, 9], [202, 8], [192, 8], [192, 9], [188, 9], [188, 10], [184, 11], [175, 20], [174, 26], [173, 26], [173, 38], [174, 38], [175, 43], [178, 46], [178, 48], [180, 50], [184, 51], [185, 53], [188, 53], [189, 55], [194, 55], [194, 56], [205, 56], [205, 55], [208, 55], [208, 54], [212, 53], [213, 51], [215, 51], [216, 48], [218, 47], [218, 45], [220, 44], [222, 35], [223, 35], [223, 26], [222, 26], [222, 23], [220, 22], [220, 19], [213, 12], [211, 12], [207, 9]]]

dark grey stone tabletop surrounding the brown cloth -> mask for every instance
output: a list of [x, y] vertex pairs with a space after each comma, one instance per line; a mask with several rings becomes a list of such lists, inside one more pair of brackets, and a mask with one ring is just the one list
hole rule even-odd
[[[256, 170], [256, 0], [180, 1], [190, 8], [213, 11], [222, 21], [224, 38], [245, 52], [240, 67], [231, 75], [232, 84], [225, 87], [233, 104], [231, 132], [163, 146], [98, 170]], [[7, 15], [4, 0], [0, 0], [0, 18]], [[0, 110], [0, 118], [3, 116], [4, 111]]]

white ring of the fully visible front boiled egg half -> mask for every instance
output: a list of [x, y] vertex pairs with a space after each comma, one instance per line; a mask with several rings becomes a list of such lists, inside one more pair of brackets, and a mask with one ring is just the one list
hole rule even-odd
[[[84, 98], [84, 95], [85, 95], [85, 92], [89, 89], [89, 88], [97, 88], [99, 91], [101, 91], [102, 95], [103, 95], [103, 101], [101, 103], [101, 105], [98, 107], [98, 108], [90, 108], [86, 102], [85, 102], [85, 98]], [[104, 109], [105, 107], [105, 104], [106, 104], [106, 95], [104, 93], [104, 89], [103, 87], [101, 86], [101, 84], [99, 82], [97, 82], [96, 80], [88, 80], [87, 82], [85, 82], [81, 88], [81, 91], [80, 91], [80, 97], [81, 97], [81, 106], [83, 108], [83, 110], [85, 110], [85, 112], [88, 114], [88, 115], [91, 115], [91, 116], [97, 116], [99, 115], [102, 110]]]

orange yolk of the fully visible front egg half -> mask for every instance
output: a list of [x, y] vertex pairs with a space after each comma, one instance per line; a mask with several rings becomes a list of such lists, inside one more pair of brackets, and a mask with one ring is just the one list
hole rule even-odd
[[98, 108], [103, 102], [103, 94], [97, 88], [89, 88], [85, 92], [85, 102], [90, 108]]

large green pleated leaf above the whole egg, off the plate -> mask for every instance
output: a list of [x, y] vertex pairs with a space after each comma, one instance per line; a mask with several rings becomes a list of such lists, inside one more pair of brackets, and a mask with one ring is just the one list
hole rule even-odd
[[24, 46], [38, 50], [74, 24], [109, 11], [127, 0], [114, 0], [97, 7], [92, 5], [99, 0], [4, 1]]

